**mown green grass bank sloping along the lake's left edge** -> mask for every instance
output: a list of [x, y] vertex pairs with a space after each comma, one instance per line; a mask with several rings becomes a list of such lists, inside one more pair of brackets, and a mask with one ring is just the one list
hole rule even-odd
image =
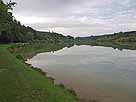
[[0, 102], [77, 102], [66, 89], [17, 59], [0, 45]]

